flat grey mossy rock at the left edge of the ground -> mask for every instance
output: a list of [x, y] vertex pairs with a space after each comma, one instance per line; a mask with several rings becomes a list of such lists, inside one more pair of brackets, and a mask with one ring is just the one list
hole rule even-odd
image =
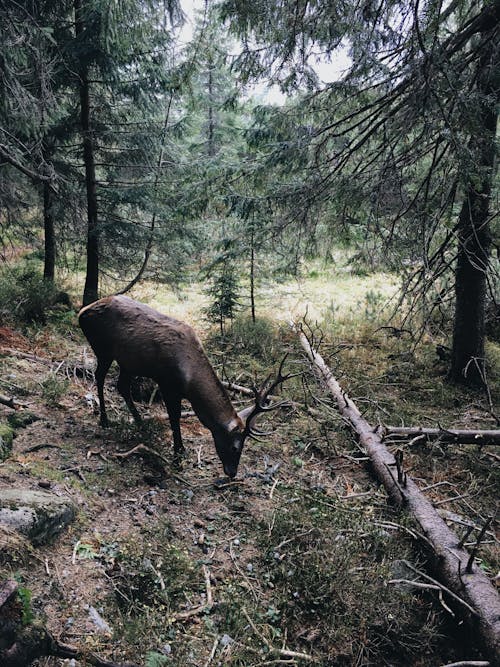
[[57, 535], [75, 517], [68, 498], [46, 491], [0, 489], [0, 525], [17, 530], [35, 545]]

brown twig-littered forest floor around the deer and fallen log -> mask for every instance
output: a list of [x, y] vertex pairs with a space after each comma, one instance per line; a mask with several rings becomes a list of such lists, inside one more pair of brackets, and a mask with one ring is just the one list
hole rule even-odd
[[[255, 360], [241, 340], [224, 355], [225, 374], [247, 386], [255, 369], [265, 377], [284, 351], [287, 370], [304, 373], [285, 385], [292, 405], [272, 414], [263, 442], [248, 442], [229, 484], [195, 417], [182, 421], [181, 470], [120, 458], [143, 444], [170, 460], [165, 411], [139, 404], [146, 423], [136, 427], [110, 377], [112, 425], [99, 427], [92, 376], [82, 373], [93, 357], [74, 316], [24, 333], [2, 328], [0, 393], [16, 395], [39, 419], [17, 429], [0, 486], [42, 486], [78, 508], [51, 544], [8, 557], [0, 549], [2, 578], [15, 576], [30, 590], [34, 616], [58, 639], [117, 662], [434, 667], [480, 658], [477, 637], [449, 600], [391, 583], [424, 581], [411, 569], [425, 572], [411, 518], [388, 505], [294, 335], [273, 336], [273, 360]], [[221, 373], [220, 355], [210, 341], [206, 347]], [[434, 344], [410, 348], [373, 327], [322, 343], [374, 424], [496, 427], [483, 395], [445, 382]], [[491, 349], [498, 356], [498, 346]], [[10, 413], [0, 406], [0, 422]], [[495, 514], [497, 449], [405, 449], [410, 474], [458, 532]], [[497, 529], [490, 527], [479, 554], [492, 581]]]

